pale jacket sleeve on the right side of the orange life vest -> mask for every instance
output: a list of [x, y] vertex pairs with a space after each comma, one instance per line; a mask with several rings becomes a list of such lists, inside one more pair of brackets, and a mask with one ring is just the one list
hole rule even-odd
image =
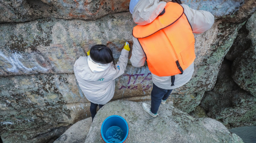
[[204, 10], [193, 10], [185, 4], [182, 4], [182, 7], [191, 24], [193, 33], [203, 33], [213, 26], [214, 16], [212, 13]]

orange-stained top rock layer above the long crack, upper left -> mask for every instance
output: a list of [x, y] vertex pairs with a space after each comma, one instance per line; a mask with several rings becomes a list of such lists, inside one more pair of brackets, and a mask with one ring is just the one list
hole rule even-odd
[[110, 13], [128, 11], [129, 2], [126, 0], [1, 0], [0, 23], [19, 23], [41, 18], [97, 19]]

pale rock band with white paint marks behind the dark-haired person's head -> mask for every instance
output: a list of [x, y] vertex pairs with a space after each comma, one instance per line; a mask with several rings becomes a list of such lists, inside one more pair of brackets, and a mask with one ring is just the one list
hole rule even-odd
[[1, 24], [0, 76], [73, 73], [74, 61], [94, 44], [107, 44], [117, 59], [135, 23], [130, 13], [97, 21], [42, 19]]

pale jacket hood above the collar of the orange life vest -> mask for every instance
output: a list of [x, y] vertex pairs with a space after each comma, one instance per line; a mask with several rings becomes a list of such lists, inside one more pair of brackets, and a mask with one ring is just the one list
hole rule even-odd
[[144, 26], [152, 23], [155, 18], [165, 9], [166, 2], [159, 0], [140, 0], [135, 5], [132, 13], [133, 21]]

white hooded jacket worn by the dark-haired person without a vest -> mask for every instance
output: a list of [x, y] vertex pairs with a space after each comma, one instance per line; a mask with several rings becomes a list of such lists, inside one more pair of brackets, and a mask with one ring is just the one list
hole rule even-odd
[[[124, 74], [129, 51], [122, 50], [116, 69], [113, 63], [91, 63], [90, 56], [79, 57], [74, 64], [74, 74], [85, 97], [93, 103], [104, 105], [115, 93], [115, 78]], [[88, 64], [89, 63], [89, 64]], [[103, 67], [102, 67], [103, 66]]]

